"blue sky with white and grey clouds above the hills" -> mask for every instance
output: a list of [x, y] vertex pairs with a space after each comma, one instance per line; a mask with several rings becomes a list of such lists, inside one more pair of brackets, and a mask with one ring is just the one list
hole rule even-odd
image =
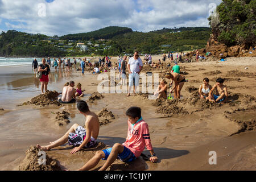
[[208, 26], [210, 3], [220, 0], [0, 0], [0, 31], [65, 35], [106, 26], [148, 32]]

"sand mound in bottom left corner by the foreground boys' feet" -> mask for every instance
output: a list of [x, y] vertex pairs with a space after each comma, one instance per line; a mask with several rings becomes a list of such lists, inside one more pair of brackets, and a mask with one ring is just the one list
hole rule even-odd
[[[30, 146], [26, 151], [26, 158], [19, 165], [19, 171], [60, 171], [60, 166], [57, 160], [53, 160], [46, 153], [46, 160], [43, 160], [43, 155], [39, 154], [39, 149], [35, 146]], [[45, 162], [45, 164], [39, 164]]]

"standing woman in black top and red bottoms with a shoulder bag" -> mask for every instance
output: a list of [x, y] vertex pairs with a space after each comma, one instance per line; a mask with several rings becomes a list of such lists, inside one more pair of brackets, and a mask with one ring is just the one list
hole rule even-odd
[[42, 94], [44, 94], [44, 91], [47, 90], [47, 85], [49, 82], [49, 72], [51, 72], [51, 69], [49, 69], [49, 65], [46, 64], [46, 59], [42, 59], [42, 64], [39, 65], [39, 72], [42, 72], [42, 77], [40, 78], [41, 82], [41, 91]]

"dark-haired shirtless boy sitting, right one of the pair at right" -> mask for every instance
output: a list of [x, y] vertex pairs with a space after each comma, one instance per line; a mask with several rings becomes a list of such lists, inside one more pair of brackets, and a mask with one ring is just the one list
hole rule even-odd
[[[217, 102], [217, 103], [226, 102], [228, 98], [228, 89], [226, 88], [225, 85], [223, 85], [223, 83], [224, 83], [224, 79], [222, 78], [218, 78], [216, 80], [216, 84], [213, 86], [212, 89], [210, 89], [209, 97], [207, 97], [207, 99], [209, 99], [210, 102]], [[218, 95], [213, 94], [214, 89], [216, 90]]]

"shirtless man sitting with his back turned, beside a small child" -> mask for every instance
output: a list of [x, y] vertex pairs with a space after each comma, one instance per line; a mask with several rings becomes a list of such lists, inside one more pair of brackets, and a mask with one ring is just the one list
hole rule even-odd
[[75, 86], [74, 81], [69, 81], [68, 86], [64, 86], [62, 90], [62, 97], [58, 98], [58, 101], [63, 104], [68, 104], [68, 103], [74, 103], [76, 102], [76, 89], [73, 87]]

